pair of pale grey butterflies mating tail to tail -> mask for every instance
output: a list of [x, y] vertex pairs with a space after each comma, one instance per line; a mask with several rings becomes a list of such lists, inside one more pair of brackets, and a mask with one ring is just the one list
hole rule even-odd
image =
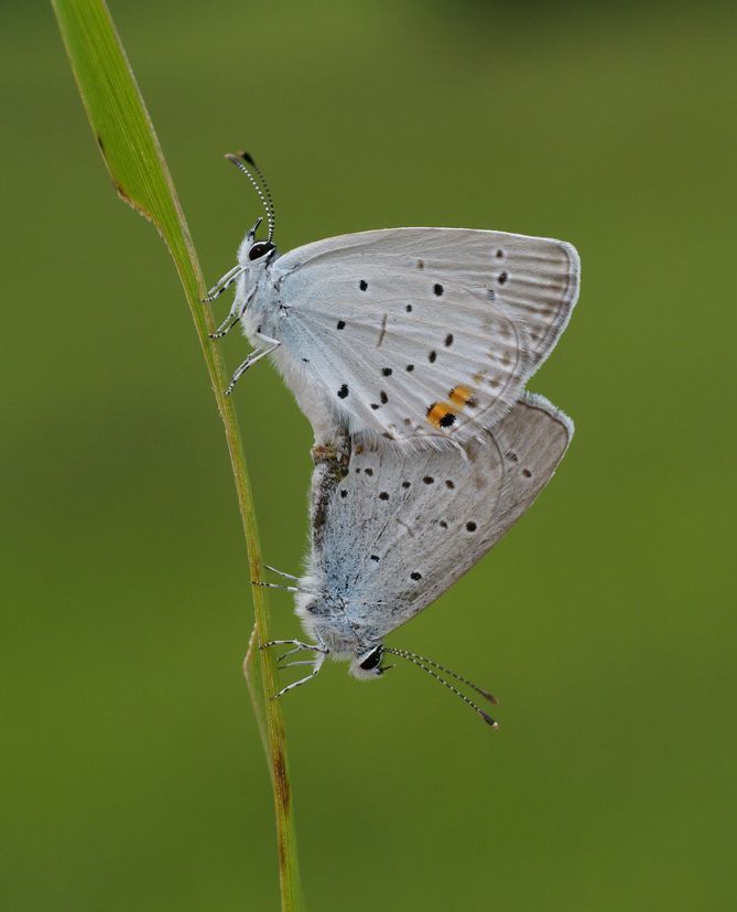
[[253, 345], [227, 391], [271, 355], [318, 454], [305, 573], [271, 584], [295, 592], [315, 640], [274, 641], [292, 646], [282, 659], [313, 654], [282, 667], [311, 673], [279, 696], [327, 655], [366, 678], [390, 653], [495, 725], [437, 670], [490, 695], [382, 637], [491, 548], [563, 458], [572, 422], [524, 386], [568, 322], [578, 256], [560, 240], [466, 228], [362, 232], [280, 256], [261, 171], [247, 153], [228, 158], [261, 197], [268, 236], [257, 239], [259, 218], [206, 299], [235, 285], [214, 336], [240, 322]]

